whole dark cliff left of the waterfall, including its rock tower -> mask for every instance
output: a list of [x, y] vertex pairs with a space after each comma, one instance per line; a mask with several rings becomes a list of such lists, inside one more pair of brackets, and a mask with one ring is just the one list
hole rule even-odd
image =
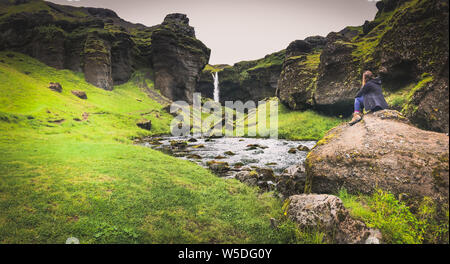
[[137, 69], [154, 69], [155, 87], [163, 95], [187, 100], [209, 60], [209, 49], [188, 21], [186, 15], [171, 14], [147, 27], [108, 9], [1, 0], [0, 50], [83, 72], [86, 81], [105, 90], [128, 81]]

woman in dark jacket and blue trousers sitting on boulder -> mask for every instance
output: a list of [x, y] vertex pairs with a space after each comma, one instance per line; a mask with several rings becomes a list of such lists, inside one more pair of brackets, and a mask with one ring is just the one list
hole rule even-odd
[[354, 125], [361, 121], [363, 109], [375, 112], [388, 107], [381, 89], [381, 79], [375, 78], [371, 71], [366, 71], [363, 74], [362, 88], [355, 98], [355, 112], [349, 124]]

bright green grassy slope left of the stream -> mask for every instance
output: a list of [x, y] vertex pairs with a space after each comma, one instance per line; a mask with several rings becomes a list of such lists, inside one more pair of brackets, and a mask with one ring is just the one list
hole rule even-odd
[[[275, 198], [132, 145], [135, 136], [168, 132], [171, 120], [132, 82], [107, 92], [7, 54], [0, 52], [0, 243], [317, 242], [288, 221], [270, 228], [270, 217], [283, 218]], [[63, 92], [48, 89], [50, 81]], [[85, 112], [87, 120], [74, 120]], [[151, 132], [135, 126], [142, 118], [152, 120]]]

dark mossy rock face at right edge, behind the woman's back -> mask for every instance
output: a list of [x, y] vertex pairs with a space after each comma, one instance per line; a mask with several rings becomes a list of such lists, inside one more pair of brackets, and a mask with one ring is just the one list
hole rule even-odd
[[[416, 125], [438, 132], [449, 131], [448, 1], [383, 1], [383, 9], [395, 10], [373, 52], [387, 91], [396, 94], [410, 88], [402, 112]], [[380, 7], [381, 8], [381, 7]], [[381, 31], [380, 24], [366, 38]], [[369, 63], [370, 64], [370, 63]], [[426, 85], [424, 80], [431, 78]]]

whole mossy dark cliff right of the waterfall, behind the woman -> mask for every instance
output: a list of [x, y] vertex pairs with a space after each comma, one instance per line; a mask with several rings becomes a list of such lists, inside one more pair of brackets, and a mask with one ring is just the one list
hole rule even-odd
[[348, 115], [362, 72], [372, 70], [394, 109], [448, 132], [448, 1], [383, 0], [377, 8], [373, 21], [332, 32], [323, 46], [291, 43], [297, 53], [283, 64], [280, 99], [292, 109]]

